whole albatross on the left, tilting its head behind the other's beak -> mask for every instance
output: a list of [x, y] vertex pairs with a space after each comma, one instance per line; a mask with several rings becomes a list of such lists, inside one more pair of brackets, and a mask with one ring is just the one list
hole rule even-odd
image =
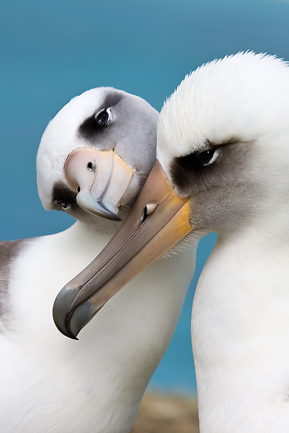
[[1, 433], [131, 429], [178, 322], [195, 246], [190, 259], [168, 257], [129, 283], [81, 341], [60, 334], [52, 308], [141, 190], [156, 161], [158, 116], [143, 99], [102, 87], [72, 99], [43, 133], [40, 199], [77, 221], [58, 234], [0, 243]]

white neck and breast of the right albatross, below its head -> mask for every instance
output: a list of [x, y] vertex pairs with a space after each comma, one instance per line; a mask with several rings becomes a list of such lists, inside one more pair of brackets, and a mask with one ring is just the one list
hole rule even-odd
[[289, 431], [288, 262], [285, 241], [217, 240], [192, 310], [201, 433]]

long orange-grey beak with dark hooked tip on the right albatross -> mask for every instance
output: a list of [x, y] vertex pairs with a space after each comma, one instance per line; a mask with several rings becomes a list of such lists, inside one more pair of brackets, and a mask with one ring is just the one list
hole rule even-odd
[[121, 287], [192, 231], [189, 217], [189, 197], [178, 197], [157, 162], [119, 231], [56, 297], [53, 318], [60, 332], [76, 339]]

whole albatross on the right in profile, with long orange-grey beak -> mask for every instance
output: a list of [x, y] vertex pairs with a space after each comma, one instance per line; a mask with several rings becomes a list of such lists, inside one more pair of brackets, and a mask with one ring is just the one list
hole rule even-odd
[[192, 308], [201, 433], [289, 431], [288, 119], [277, 57], [238, 53], [187, 75], [160, 113], [158, 161], [131, 214], [93, 276], [91, 265], [55, 300], [77, 334], [174, 243], [216, 231]]

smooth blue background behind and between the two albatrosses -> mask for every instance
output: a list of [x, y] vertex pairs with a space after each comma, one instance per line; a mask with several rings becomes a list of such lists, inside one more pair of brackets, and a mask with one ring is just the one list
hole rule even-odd
[[[203, 62], [254, 50], [289, 60], [289, 3], [269, 0], [1, 0], [0, 239], [61, 231], [72, 219], [45, 212], [36, 151], [48, 121], [72, 97], [113, 86], [160, 110]], [[153, 388], [195, 393], [192, 297], [216, 235], [200, 243], [197, 270]]]

